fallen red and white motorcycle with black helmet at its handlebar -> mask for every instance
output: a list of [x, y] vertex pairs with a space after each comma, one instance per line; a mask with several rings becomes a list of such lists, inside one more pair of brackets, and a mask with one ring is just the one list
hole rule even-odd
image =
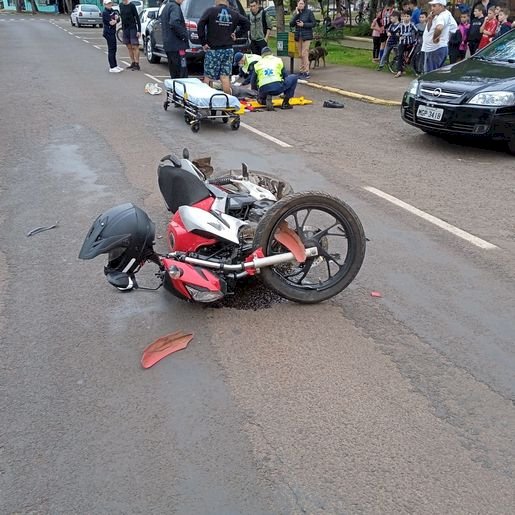
[[158, 287], [181, 299], [215, 302], [259, 274], [281, 297], [309, 304], [341, 292], [363, 263], [361, 222], [333, 196], [290, 193], [284, 181], [245, 165], [241, 175], [208, 179], [186, 150], [182, 159], [161, 160], [158, 182], [172, 213], [170, 252], [154, 250], [154, 223], [127, 203], [95, 220], [79, 253], [80, 259], [107, 254], [104, 273], [119, 290], [138, 288], [135, 275], [152, 262]]

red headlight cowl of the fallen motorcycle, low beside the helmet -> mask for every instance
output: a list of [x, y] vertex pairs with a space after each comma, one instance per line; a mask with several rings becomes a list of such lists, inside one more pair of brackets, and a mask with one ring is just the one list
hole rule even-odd
[[[163, 258], [162, 263], [165, 268], [164, 286], [178, 297], [193, 300], [186, 285], [196, 290], [218, 293], [220, 297], [223, 297], [226, 293], [225, 282], [222, 282], [217, 275], [206, 268], [190, 265], [189, 263], [181, 263], [170, 258]], [[181, 271], [179, 278], [173, 279], [170, 277], [168, 272], [172, 267], [178, 268]]]

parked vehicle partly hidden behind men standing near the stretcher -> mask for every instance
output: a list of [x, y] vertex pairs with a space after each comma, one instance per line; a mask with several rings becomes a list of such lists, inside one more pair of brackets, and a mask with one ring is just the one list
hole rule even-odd
[[[166, 59], [166, 53], [163, 48], [163, 33], [161, 30], [161, 13], [167, 1], [164, 0], [159, 8], [158, 17], [150, 20], [145, 30], [145, 55], [149, 63], [158, 63], [161, 58]], [[181, 4], [186, 29], [188, 30], [190, 48], [186, 50], [186, 59], [189, 62], [202, 61], [204, 59], [204, 50], [199, 42], [197, 34], [197, 23], [200, 17], [208, 7], [213, 7], [213, 0], [184, 0]], [[229, 6], [246, 16], [240, 0], [229, 0]], [[246, 52], [249, 49], [248, 34], [240, 29], [236, 32], [236, 40], [233, 45], [235, 52]]]

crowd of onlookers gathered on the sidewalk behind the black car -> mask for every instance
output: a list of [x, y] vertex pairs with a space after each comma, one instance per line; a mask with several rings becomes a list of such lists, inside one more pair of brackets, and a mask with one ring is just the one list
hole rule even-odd
[[447, 0], [431, 0], [431, 12], [422, 11], [417, 0], [409, 0], [399, 12], [394, 0], [389, 0], [372, 21], [372, 60], [381, 70], [394, 48], [397, 48], [397, 74], [404, 72], [405, 50], [420, 44], [425, 73], [465, 59], [467, 52], [473, 55], [493, 39], [515, 27], [509, 11], [480, 0], [470, 10], [466, 4], [458, 5], [459, 23], [447, 10]]

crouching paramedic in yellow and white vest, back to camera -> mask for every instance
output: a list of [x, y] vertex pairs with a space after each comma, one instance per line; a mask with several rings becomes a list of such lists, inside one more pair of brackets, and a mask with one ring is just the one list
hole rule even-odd
[[284, 93], [281, 109], [293, 109], [290, 98], [295, 94], [298, 77], [287, 75], [282, 59], [272, 54], [270, 48], [261, 50], [261, 59], [254, 63], [250, 84], [258, 92], [258, 101], [273, 111], [272, 96]]

